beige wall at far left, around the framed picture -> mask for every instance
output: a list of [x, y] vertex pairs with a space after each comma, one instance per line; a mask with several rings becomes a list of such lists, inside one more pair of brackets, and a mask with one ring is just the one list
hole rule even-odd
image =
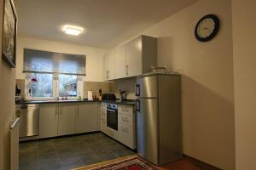
[[[3, 0], [0, 0], [0, 11], [3, 11]], [[3, 20], [3, 13], [0, 13]], [[0, 53], [2, 54], [2, 29], [0, 22]], [[10, 146], [9, 146], [9, 123], [13, 120], [15, 113], [15, 69], [10, 69], [0, 57], [0, 170], [9, 169]]]

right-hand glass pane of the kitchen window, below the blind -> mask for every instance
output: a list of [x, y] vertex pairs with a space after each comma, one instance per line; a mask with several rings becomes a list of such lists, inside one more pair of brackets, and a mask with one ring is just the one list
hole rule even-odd
[[59, 97], [76, 97], [78, 94], [78, 77], [59, 75]]

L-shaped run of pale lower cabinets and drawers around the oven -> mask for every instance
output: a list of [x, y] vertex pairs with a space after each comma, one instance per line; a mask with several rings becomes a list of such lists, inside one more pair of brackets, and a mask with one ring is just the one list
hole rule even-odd
[[118, 105], [118, 131], [107, 126], [107, 104], [94, 102], [42, 104], [39, 138], [101, 130], [113, 139], [136, 149], [136, 120], [131, 105]]

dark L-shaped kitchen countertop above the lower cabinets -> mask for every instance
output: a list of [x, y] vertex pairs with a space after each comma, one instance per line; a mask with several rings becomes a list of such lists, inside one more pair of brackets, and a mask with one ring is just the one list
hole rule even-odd
[[16, 105], [34, 105], [34, 104], [54, 104], [54, 103], [82, 103], [82, 102], [105, 102], [105, 103], [113, 103], [113, 104], [119, 104], [119, 105], [135, 105], [135, 100], [127, 99], [123, 101], [119, 101], [119, 99], [116, 100], [105, 100], [102, 101], [96, 99], [96, 100], [88, 100], [88, 99], [82, 99], [82, 100], [32, 100], [32, 101], [19, 101], [16, 102]]

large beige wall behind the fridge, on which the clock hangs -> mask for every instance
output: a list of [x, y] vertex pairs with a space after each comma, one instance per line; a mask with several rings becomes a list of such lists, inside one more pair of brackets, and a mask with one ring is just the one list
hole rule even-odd
[[[217, 14], [221, 27], [198, 42], [195, 24], [205, 14]], [[158, 37], [158, 65], [183, 75], [183, 153], [235, 169], [231, 1], [198, 1], [142, 34]]]

